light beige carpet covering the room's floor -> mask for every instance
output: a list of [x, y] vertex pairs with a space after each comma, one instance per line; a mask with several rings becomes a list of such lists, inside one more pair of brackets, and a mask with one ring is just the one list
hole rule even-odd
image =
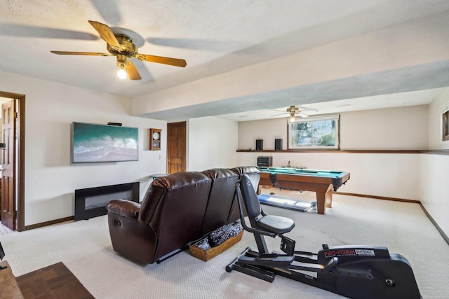
[[[287, 235], [296, 239], [296, 250], [316, 252], [322, 243], [387, 246], [409, 260], [423, 298], [449, 298], [449, 246], [419, 204], [334, 195], [326, 215], [262, 207], [267, 214], [294, 219]], [[152, 265], [133, 263], [112, 250], [107, 216], [1, 235], [0, 241], [15, 276], [63, 262], [95, 298], [343, 298], [285, 277], [269, 283], [226, 272], [246, 246], [256, 248], [248, 232], [207, 262], [184, 251]], [[279, 238], [267, 238], [267, 244], [278, 250]]]

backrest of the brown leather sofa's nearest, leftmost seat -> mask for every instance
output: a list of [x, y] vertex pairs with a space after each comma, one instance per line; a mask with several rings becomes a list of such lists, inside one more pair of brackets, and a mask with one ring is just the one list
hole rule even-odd
[[201, 237], [211, 182], [201, 172], [177, 172], [153, 181], [139, 220], [158, 236], [155, 259]]

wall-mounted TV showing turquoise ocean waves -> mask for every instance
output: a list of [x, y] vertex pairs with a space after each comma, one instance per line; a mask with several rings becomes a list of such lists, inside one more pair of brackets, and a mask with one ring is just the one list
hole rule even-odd
[[93, 123], [73, 123], [72, 162], [139, 160], [139, 129]]

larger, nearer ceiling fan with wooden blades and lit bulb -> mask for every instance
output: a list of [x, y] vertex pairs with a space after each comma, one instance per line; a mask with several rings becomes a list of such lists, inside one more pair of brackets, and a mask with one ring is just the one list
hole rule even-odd
[[133, 62], [128, 58], [137, 58], [138, 60], [146, 62], [156, 62], [161, 64], [170, 64], [175, 67], [185, 67], [187, 62], [185, 60], [154, 56], [138, 53], [138, 47], [135, 46], [133, 40], [125, 34], [114, 34], [109, 26], [100, 22], [88, 21], [95, 30], [100, 34], [102, 39], [107, 43], [107, 50], [109, 53], [95, 53], [95, 52], [67, 52], [67, 51], [51, 51], [51, 53], [59, 55], [89, 55], [89, 56], [116, 56], [117, 57], [117, 76], [119, 78], [126, 78], [126, 75], [131, 80], [140, 80], [138, 69], [135, 68]]

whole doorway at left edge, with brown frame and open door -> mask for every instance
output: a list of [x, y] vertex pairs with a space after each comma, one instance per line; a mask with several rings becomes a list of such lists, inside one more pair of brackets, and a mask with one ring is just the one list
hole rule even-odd
[[0, 91], [1, 200], [0, 221], [11, 230], [25, 230], [25, 95]]

